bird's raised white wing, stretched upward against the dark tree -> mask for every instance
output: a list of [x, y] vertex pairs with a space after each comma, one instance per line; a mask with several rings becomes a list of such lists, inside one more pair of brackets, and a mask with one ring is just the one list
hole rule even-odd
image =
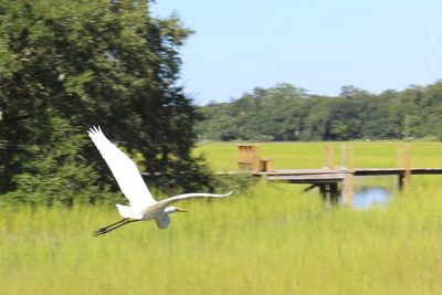
[[130, 207], [144, 209], [156, 203], [135, 162], [106, 138], [99, 126], [94, 126], [87, 134], [110, 168]]

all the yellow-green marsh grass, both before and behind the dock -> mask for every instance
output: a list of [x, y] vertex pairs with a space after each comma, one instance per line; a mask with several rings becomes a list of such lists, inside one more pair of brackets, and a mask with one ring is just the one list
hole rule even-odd
[[[339, 146], [336, 145], [336, 159]], [[355, 166], [397, 165], [397, 143], [355, 143]], [[276, 168], [323, 166], [323, 144], [265, 144]], [[215, 170], [236, 146], [198, 147]], [[412, 144], [413, 166], [442, 166], [441, 144]], [[0, 209], [0, 294], [442, 294], [442, 177], [413, 177], [389, 206], [327, 210], [302, 186], [259, 183], [181, 202], [167, 230], [113, 207]]]

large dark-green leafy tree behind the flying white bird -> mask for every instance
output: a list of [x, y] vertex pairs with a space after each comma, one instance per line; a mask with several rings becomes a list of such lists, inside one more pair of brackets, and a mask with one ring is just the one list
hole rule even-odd
[[66, 187], [114, 183], [85, 141], [93, 125], [141, 155], [141, 170], [160, 172], [155, 185], [208, 187], [201, 160], [189, 156], [199, 115], [177, 85], [178, 50], [191, 31], [176, 17], [151, 18], [149, 4], [0, 1], [0, 193], [69, 203], [59, 193]]

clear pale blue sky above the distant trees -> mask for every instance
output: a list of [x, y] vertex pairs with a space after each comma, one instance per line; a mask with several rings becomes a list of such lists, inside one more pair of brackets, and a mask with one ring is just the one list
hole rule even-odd
[[337, 95], [441, 78], [442, 0], [157, 0], [196, 31], [181, 82], [199, 105], [291, 83]]

